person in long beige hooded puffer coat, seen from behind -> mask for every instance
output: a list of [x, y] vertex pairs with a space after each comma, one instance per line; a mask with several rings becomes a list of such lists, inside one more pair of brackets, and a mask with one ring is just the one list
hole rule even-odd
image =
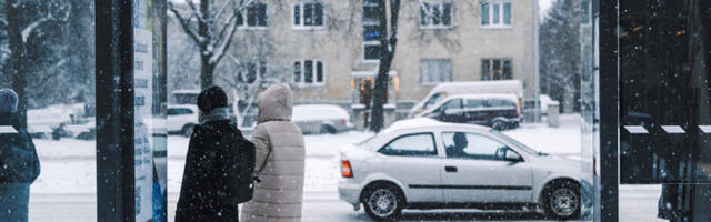
[[242, 208], [242, 221], [301, 221], [303, 199], [303, 135], [291, 119], [293, 93], [274, 84], [259, 94], [252, 133], [257, 147], [254, 198]]

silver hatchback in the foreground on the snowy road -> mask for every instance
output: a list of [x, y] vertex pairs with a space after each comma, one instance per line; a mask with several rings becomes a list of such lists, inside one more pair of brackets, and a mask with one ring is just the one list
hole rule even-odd
[[[374, 220], [403, 209], [581, 212], [580, 163], [537, 152], [490, 128], [420, 118], [341, 151], [341, 200]], [[584, 192], [584, 191], [582, 191]], [[540, 206], [540, 208], [538, 208]]]

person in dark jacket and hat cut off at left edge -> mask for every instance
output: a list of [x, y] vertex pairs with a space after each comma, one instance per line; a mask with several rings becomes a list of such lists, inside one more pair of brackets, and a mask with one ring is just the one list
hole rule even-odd
[[40, 174], [32, 138], [20, 124], [18, 94], [0, 89], [0, 221], [28, 221], [30, 184]]

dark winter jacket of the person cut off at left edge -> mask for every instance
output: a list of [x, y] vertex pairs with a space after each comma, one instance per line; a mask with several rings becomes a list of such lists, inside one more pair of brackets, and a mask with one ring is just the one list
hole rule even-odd
[[0, 127], [17, 131], [0, 134], [0, 183], [31, 184], [40, 175], [40, 160], [30, 133], [14, 113], [0, 113]]

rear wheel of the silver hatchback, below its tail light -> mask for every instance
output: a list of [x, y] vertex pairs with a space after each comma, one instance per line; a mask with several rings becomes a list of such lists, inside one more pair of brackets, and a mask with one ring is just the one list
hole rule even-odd
[[375, 184], [363, 192], [363, 208], [374, 221], [394, 221], [404, 204], [402, 192], [393, 184]]

